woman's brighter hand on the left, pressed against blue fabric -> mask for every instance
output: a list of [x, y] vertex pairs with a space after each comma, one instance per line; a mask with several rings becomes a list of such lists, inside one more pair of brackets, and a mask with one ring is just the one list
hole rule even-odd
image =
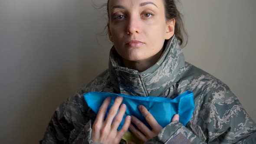
[[[101, 105], [94, 124], [92, 125], [92, 136], [91, 139], [93, 142], [103, 143], [103, 144], [119, 144], [121, 137], [128, 130], [129, 125], [131, 124], [131, 117], [127, 116], [125, 118], [125, 124], [120, 131], [117, 131], [119, 124], [121, 123], [123, 116], [125, 114], [126, 106], [121, 105], [123, 97], [117, 97], [114, 104], [108, 111], [108, 116], [104, 121], [108, 105], [111, 102], [111, 98], [106, 98]], [[121, 106], [120, 106], [121, 105]], [[120, 108], [119, 108], [120, 106]], [[119, 108], [119, 112], [115, 117]], [[113, 119], [115, 120], [113, 121]], [[113, 122], [113, 123], [112, 123]]]

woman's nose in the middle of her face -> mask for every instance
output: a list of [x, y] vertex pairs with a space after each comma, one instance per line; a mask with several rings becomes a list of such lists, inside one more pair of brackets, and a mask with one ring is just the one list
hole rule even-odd
[[126, 33], [127, 34], [138, 34], [140, 33], [140, 20], [138, 19], [138, 16], [130, 16], [128, 18], [128, 23], [127, 23], [127, 28], [126, 28]]

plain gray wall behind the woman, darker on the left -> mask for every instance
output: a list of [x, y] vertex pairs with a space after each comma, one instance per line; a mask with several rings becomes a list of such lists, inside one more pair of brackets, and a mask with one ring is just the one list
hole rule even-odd
[[[229, 85], [256, 121], [255, 0], [181, 2], [186, 60]], [[91, 0], [0, 0], [2, 144], [38, 143], [55, 108], [107, 68], [104, 13]]]

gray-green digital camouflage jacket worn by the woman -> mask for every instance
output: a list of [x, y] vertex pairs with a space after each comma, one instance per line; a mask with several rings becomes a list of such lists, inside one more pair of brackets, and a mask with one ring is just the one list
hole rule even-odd
[[171, 122], [146, 144], [256, 144], [256, 124], [240, 101], [223, 82], [185, 62], [175, 36], [165, 45], [158, 62], [144, 72], [121, 65], [120, 56], [112, 48], [109, 68], [56, 109], [40, 143], [92, 143], [91, 126], [96, 115], [86, 104], [84, 93], [175, 98], [192, 91], [196, 108], [188, 124]]

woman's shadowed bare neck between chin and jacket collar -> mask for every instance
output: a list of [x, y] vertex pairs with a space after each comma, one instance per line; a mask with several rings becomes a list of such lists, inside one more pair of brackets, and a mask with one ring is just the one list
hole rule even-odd
[[164, 49], [161, 49], [156, 55], [141, 61], [129, 61], [127, 59], [123, 59], [123, 64], [129, 69], [135, 69], [138, 70], [138, 72], [144, 72], [153, 66], [156, 62], [158, 62], [158, 59], [160, 59], [162, 56], [163, 51]]

